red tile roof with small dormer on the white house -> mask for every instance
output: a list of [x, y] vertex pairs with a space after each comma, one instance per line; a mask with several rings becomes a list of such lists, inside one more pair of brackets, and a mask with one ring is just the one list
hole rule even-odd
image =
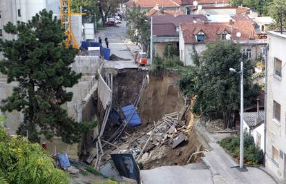
[[205, 41], [212, 42], [220, 40], [220, 34], [223, 31], [227, 31], [234, 39], [236, 33], [240, 32], [241, 37], [239, 40], [258, 39], [254, 30], [254, 25], [251, 21], [235, 21], [229, 22], [198, 22], [198, 23], [182, 23], [182, 34], [184, 37], [184, 43], [196, 43], [196, 34], [200, 31], [204, 32]]

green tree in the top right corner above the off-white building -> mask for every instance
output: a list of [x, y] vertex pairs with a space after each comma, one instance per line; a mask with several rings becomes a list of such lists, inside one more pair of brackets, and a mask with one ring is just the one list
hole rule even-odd
[[271, 27], [283, 33], [286, 28], [286, 0], [273, 0], [269, 6], [269, 15], [275, 21]]

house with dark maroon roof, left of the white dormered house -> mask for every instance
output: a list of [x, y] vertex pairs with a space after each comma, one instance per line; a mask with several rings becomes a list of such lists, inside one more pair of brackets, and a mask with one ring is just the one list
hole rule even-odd
[[193, 21], [207, 21], [207, 17], [202, 14], [153, 16], [154, 56], [164, 58], [167, 45], [173, 45], [175, 49], [179, 49], [180, 23]]

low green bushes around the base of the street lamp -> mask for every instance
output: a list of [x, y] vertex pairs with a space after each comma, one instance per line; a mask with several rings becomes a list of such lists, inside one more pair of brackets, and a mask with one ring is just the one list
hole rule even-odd
[[[262, 164], [263, 163], [263, 150], [259, 147], [256, 147], [254, 143], [254, 138], [244, 132], [244, 156], [247, 163], [251, 165]], [[240, 136], [229, 136], [225, 139], [222, 139], [220, 142], [220, 146], [225, 148], [233, 156], [234, 158], [238, 158], [240, 155]]]

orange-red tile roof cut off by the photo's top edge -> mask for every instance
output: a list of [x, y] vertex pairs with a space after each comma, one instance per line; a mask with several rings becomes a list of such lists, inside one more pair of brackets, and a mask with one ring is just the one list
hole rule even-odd
[[141, 8], [153, 8], [156, 5], [163, 7], [180, 7], [182, 4], [181, 0], [129, 0], [125, 4], [126, 6], [133, 6], [135, 3], [136, 6]]

